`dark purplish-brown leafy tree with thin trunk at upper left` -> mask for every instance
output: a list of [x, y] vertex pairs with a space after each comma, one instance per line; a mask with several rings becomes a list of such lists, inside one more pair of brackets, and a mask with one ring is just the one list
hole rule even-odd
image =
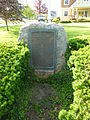
[[0, 16], [6, 23], [7, 31], [8, 20], [20, 20], [22, 17], [21, 13], [22, 5], [18, 0], [0, 0]]

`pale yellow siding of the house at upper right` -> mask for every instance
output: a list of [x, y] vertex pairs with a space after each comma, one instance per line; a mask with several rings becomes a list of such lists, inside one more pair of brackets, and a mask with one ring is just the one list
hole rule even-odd
[[[70, 20], [72, 17], [85, 17], [85, 11], [88, 11], [88, 15], [86, 17], [90, 17], [90, 6], [71, 7], [75, 1], [76, 0], [69, 0], [69, 5], [64, 5], [64, 0], [61, 0], [61, 21]], [[64, 16], [64, 11], [68, 11], [68, 16]]]

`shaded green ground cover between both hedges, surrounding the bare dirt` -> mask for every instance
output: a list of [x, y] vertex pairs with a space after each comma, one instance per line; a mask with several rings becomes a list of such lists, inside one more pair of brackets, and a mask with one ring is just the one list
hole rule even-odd
[[[10, 111], [11, 120], [24, 120], [25, 112], [30, 113], [30, 115], [33, 114], [32, 112], [35, 112], [35, 115], [41, 116], [40, 118], [42, 119], [44, 119], [43, 117], [46, 114], [48, 119], [58, 120], [59, 111], [64, 108], [68, 110], [69, 105], [73, 101], [72, 80], [72, 72], [67, 66], [64, 66], [61, 72], [51, 75], [47, 79], [39, 80], [35, 77], [33, 70], [29, 69], [22, 88], [19, 91], [19, 95], [15, 98], [16, 101]], [[38, 86], [38, 84], [39, 86], [43, 85], [43, 87], [48, 84], [50, 88], [47, 89], [49, 91], [52, 87], [52, 94], [33, 103], [33, 94], [38, 96], [38, 94], [36, 94], [37, 91], [34, 93], [33, 89], [36, 85]]]

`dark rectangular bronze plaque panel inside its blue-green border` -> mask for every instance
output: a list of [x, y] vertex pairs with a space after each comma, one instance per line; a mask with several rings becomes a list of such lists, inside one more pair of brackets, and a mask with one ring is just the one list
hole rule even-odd
[[38, 69], [54, 68], [54, 32], [31, 32], [32, 65]]

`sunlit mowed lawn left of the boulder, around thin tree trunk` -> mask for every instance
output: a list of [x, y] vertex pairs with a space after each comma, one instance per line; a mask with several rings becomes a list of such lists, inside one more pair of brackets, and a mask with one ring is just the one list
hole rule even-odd
[[9, 26], [9, 31], [6, 31], [6, 27], [0, 27], [0, 42], [16, 42], [19, 31], [20, 25]]

